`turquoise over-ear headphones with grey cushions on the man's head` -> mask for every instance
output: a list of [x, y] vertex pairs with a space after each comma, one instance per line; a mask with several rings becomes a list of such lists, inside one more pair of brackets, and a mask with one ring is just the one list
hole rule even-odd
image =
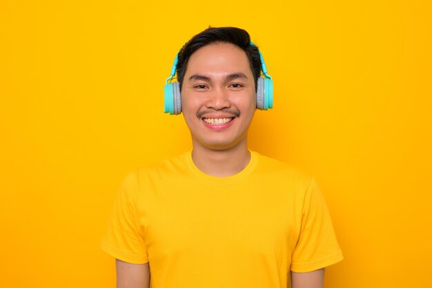
[[[251, 45], [255, 46], [252, 43]], [[259, 52], [259, 50], [258, 50]], [[261, 59], [261, 70], [262, 76], [257, 80], [257, 109], [268, 110], [268, 108], [273, 108], [273, 79], [267, 74], [266, 63], [262, 57], [261, 52], [259, 52], [259, 59]], [[165, 113], [170, 113], [170, 115], [179, 115], [181, 113], [181, 95], [180, 95], [180, 83], [178, 81], [173, 81], [175, 71], [177, 70], [177, 63], [179, 61], [179, 53], [175, 56], [173, 67], [171, 67], [170, 77], [165, 80]], [[170, 81], [170, 83], [168, 83]]]

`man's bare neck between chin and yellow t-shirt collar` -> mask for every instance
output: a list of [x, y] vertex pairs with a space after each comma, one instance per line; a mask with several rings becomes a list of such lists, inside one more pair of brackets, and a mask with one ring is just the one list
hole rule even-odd
[[212, 150], [194, 143], [192, 160], [207, 175], [227, 177], [245, 169], [251, 160], [251, 153], [246, 141], [224, 150]]

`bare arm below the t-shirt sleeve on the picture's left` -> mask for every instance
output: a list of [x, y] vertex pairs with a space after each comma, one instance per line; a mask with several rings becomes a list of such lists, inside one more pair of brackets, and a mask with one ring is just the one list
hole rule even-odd
[[149, 288], [150, 266], [115, 260], [117, 288]]

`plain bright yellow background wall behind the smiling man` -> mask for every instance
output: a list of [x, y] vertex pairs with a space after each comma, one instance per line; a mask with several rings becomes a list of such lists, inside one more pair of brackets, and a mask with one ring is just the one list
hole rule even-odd
[[275, 79], [252, 149], [317, 177], [345, 260], [326, 287], [430, 287], [431, 4], [0, 1], [0, 287], [114, 287], [123, 177], [190, 149], [164, 115], [175, 53], [251, 33]]

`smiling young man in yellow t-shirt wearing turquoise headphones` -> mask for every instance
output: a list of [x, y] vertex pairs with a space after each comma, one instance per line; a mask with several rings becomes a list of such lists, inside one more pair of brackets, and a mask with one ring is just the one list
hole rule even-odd
[[124, 181], [102, 244], [118, 288], [319, 288], [342, 260], [313, 178], [248, 150], [255, 109], [268, 108], [265, 69], [239, 28], [181, 48], [166, 101], [193, 150]]

